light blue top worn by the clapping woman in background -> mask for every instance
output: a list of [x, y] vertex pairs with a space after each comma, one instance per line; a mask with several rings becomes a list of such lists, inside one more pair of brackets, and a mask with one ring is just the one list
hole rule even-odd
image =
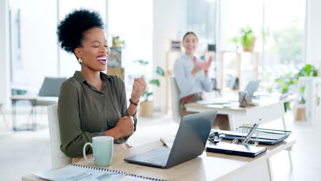
[[[198, 58], [195, 58], [197, 62], [203, 62]], [[175, 80], [180, 89], [180, 99], [188, 95], [195, 93], [202, 93], [203, 90], [209, 92], [213, 89], [213, 82], [209, 77], [205, 77], [204, 71], [198, 71], [195, 77], [191, 75], [194, 64], [193, 60], [186, 54], [176, 59], [174, 64]]]

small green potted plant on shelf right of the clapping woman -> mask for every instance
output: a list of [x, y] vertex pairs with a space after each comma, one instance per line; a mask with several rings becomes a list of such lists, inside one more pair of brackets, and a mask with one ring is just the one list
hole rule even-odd
[[250, 27], [245, 27], [241, 29], [241, 45], [243, 51], [253, 51], [255, 44], [255, 37], [253, 36], [253, 31]]

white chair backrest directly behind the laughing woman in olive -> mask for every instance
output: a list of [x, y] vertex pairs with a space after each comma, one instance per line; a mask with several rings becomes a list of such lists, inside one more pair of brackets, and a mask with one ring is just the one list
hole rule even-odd
[[61, 167], [63, 165], [71, 164], [71, 158], [66, 156], [60, 150], [60, 130], [58, 121], [58, 106], [53, 104], [47, 107], [48, 109], [48, 121], [51, 143], [51, 161], [52, 168]]

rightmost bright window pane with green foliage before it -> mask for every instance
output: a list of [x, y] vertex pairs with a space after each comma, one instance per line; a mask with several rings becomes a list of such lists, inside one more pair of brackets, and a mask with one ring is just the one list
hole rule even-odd
[[305, 0], [265, 1], [265, 17], [264, 64], [302, 63]]

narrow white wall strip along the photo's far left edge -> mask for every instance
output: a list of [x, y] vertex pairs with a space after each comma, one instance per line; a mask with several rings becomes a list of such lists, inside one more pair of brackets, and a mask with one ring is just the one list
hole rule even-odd
[[[9, 10], [8, 0], [0, 0], [0, 104], [10, 105]], [[5, 109], [5, 108], [3, 108]]]

